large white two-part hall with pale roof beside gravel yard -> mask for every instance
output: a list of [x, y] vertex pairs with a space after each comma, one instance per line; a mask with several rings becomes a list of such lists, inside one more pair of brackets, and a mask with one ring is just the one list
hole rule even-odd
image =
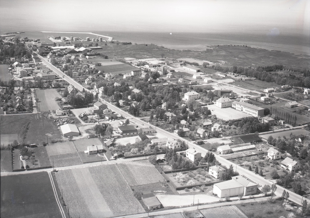
[[213, 185], [213, 194], [219, 198], [234, 197], [239, 194], [244, 196], [256, 194], [257, 184], [246, 176], [233, 176], [232, 180], [215, 183]]

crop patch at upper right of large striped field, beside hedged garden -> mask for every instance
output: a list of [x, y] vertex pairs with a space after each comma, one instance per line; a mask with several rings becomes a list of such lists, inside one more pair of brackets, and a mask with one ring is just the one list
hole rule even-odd
[[[148, 160], [119, 163], [117, 168], [131, 186], [164, 181], [162, 175]], [[145, 176], [146, 172], [148, 176]]]

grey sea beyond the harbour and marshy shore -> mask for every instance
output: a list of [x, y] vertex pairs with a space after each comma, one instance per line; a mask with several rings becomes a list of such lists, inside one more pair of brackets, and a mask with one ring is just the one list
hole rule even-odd
[[[48, 29], [47, 27], [13, 27], [1, 28], [0, 34], [15, 31], [25, 31], [21, 37], [40, 39], [49, 41], [48, 36], [66, 37], [86, 37], [98, 38], [96, 35], [87, 34], [88, 32], [113, 37], [113, 40], [120, 42], [132, 42], [137, 44], [156, 44], [169, 49], [204, 51], [210, 45], [247, 45], [250, 47], [263, 48], [267, 50], [285, 51], [294, 54], [310, 56], [310, 38], [306, 35], [296, 35], [294, 33], [276, 32], [219, 32], [208, 33], [195, 32], [130, 32], [130, 31], [109, 31], [102, 29]], [[83, 32], [82, 33], [42, 33], [41, 31], [53, 32]], [[85, 32], [85, 34], [84, 34]], [[87, 33], [86, 33], [87, 32]], [[104, 39], [104, 38], [103, 38]]]

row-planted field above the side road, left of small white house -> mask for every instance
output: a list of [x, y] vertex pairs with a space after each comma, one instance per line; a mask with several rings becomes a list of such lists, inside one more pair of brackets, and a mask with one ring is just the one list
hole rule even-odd
[[54, 163], [55, 167], [83, 164], [71, 141], [47, 145], [46, 150], [51, 164]]

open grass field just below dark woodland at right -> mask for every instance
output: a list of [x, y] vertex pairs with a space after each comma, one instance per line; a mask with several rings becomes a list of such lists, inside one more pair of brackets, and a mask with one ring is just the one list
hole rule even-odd
[[266, 88], [281, 88], [281, 85], [278, 85], [273, 82], [265, 82], [261, 80], [242, 80], [242, 81], [236, 81], [232, 83], [232, 85], [239, 86], [241, 88], [249, 89], [249, 90], [255, 90], [263, 92]]

